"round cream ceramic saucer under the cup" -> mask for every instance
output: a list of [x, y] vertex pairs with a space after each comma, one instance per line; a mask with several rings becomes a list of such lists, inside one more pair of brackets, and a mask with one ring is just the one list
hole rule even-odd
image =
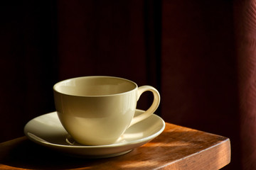
[[[136, 110], [135, 116], [144, 113]], [[126, 154], [132, 149], [153, 140], [164, 131], [165, 123], [158, 115], [140, 121], [128, 128], [119, 140], [111, 145], [87, 146], [73, 141], [61, 125], [56, 112], [47, 113], [30, 120], [24, 128], [29, 140], [38, 145], [55, 149], [65, 154], [78, 157], [103, 158]]]

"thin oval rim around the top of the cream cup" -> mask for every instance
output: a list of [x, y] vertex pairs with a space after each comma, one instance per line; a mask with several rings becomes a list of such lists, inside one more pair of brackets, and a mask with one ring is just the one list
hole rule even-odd
[[[129, 83], [132, 83], [134, 84], [134, 89], [132, 90], [129, 90], [129, 91], [124, 91], [122, 93], [118, 93], [118, 94], [105, 94], [105, 95], [74, 95], [74, 94], [65, 94], [63, 92], [60, 92], [56, 89], [56, 87], [60, 84], [62, 84], [64, 81], [70, 81], [70, 80], [73, 80], [73, 79], [81, 79], [81, 78], [93, 78], [93, 77], [104, 77], [104, 78], [112, 78], [112, 79], [121, 79], [121, 80], [124, 80], [124, 81], [128, 81]], [[118, 95], [123, 95], [123, 94], [127, 94], [127, 93], [130, 93], [131, 91], [134, 91], [138, 89], [138, 85], [134, 82], [134, 81], [131, 81], [129, 79], [124, 79], [124, 78], [121, 78], [121, 77], [112, 77], [112, 76], [85, 76], [85, 77], [73, 77], [73, 78], [70, 78], [70, 79], [64, 79], [62, 81], [58, 81], [57, 83], [55, 83], [53, 85], [53, 91], [57, 92], [58, 94], [62, 94], [62, 95], [65, 95], [65, 96], [75, 96], [75, 97], [105, 97], [105, 96], [118, 96]]]

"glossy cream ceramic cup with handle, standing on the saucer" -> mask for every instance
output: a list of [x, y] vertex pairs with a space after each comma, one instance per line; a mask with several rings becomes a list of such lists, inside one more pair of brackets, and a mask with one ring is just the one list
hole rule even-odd
[[[139, 96], [154, 94], [149, 109], [134, 117]], [[118, 77], [78, 77], [53, 86], [55, 108], [63, 127], [82, 145], [109, 145], [129, 126], [148, 118], [159, 106], [159, 92]]]

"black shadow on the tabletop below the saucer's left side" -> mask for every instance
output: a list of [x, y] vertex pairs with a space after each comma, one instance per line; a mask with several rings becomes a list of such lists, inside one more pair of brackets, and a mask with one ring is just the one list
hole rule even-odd
[[[36, 145], [26, 138], [2, 148], [0, 163], [23, 169], [76, 169], [97, 163], [96, 159], [70, 157], [46, 147]], [[89, 167], [88, 167], [89, 168]], [[1, 169], [1, 167], [0, 167]]]

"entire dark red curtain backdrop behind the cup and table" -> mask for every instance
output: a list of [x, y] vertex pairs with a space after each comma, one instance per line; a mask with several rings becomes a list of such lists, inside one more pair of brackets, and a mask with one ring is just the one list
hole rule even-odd
[[[52, 86], [109, 75], [159, 89], [166, 122], [229, 137], [256, 169], [255, 0], [19, 1], [0, 6], [0, 142], [54, 111]], [[139, 108], [147, 108], [145, 94]]]

